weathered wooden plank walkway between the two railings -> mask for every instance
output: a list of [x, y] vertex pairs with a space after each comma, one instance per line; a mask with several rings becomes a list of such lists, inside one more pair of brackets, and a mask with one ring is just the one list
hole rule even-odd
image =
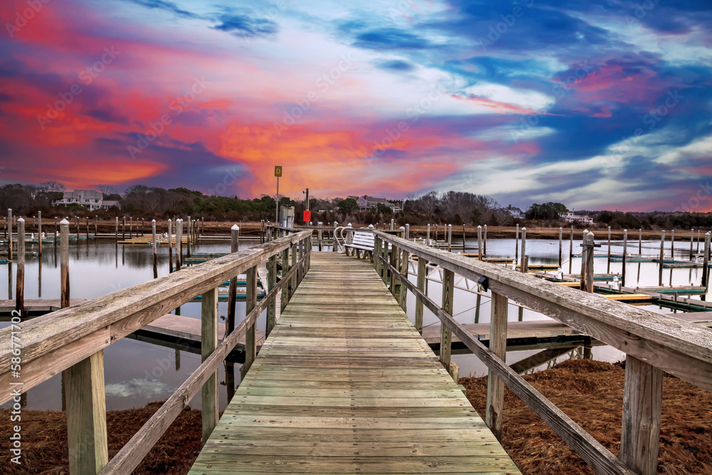
[[228, 472], [519, 474], [372, 264], [327, 252], [189, 473]]

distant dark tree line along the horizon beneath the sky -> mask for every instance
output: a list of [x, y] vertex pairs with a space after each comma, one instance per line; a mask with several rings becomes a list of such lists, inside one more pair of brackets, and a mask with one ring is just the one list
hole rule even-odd
[[[173, 216], [191, 215], [216, 221], [273, 221], [275, 198], [263, 194], [259, 198], [207, 196], [187, 188], [164, 189], [137, 184], [118, 194], [109, 185], [98, 185], [105, 200], [120, 203], [120, 209], [111, 208], [89, 211], [80, 204], [68, 207], [53, 207], [52, 202], [61, 199], [65, 187], [60, 182], [48, 181], [40, 184], [6, 184], [0, 187], [0, 209], [13, 209], [16, 216], [33, 216], [41, 211], [48, 218], [58, 216], [95, 216], [111, 219], [114, 216], [133, 216], [145, 219], [167, 219]], [[305, 210], [303, 199], [280, 197], [281, 206], [295, 208], [295, 222], [303, 224]], [[401, 203], [401, 202], [394, 202]], [[428, 192], [420, 196], [410, 196], [404, 202], [404, 209], [393, 212], [387, 204], [379, 203], [367, 211], [360, 211], [355, 199], [311, 197], [309, 209], [311, 221], [333, 224], [376, 224], [394, 219], [398, 226], [403, 224], [468, 224], [478, 226], [560, 226], [560, 214], [568, 210], [564, 204], [556, 202], [534, 203], [525, 212], [524, 219], [515, 219], [491, 197], [468, 192]], [[595, 227], [611, 226], [612, 229], [710, 229], [712, 213], [689, 212], [612, 212], [579, 211], [588, 214], [595, 221]], [[4, 213], [3, 213], [4, 214]], [[576, 224], [583, 227], [583, 224]]]

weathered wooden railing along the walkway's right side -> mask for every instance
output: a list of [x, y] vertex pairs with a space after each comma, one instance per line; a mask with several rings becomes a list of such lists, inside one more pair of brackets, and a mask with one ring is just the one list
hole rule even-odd
[[[486, 423], [502, 434], [504, 385], [541, 417], [598, 474], [656, 473], [662, 401], [662, 375], [669, 372], [712, 390], [712, 332], [693, 323], [625, 303], [610, 301], [524, 273], [439, 251], [375, 231], [375, 268], [405, 308], [407, 291], [416, 297], [416, 325], [423, 306], [441, 320], [440, 360], [450, 369], [450, 343], [456, 335], [488, 367]], [[391, 244], [390, 259], [387, 246]], [[417, 256], [417, 283], [407, 277], [409, 254]], [[427, 263], [444, 269], [442, 303], [426, 296]], [[472, 338], [452, 316], [454, 276], [479, 281], [492, 292], [490, 347]], [[508, 299], [533, 308], [627, 354], [620, 458], [585, 432], [504, 362]]]

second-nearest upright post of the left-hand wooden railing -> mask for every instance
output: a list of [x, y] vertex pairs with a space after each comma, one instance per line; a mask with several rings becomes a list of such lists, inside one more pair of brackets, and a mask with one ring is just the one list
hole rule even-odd
[[[211, 288], [203, 293], [200, 307], [200, 355], [205, 361], [218, 346], [218, 289]], [[218, 372], [215, 370], [203, 385], [202, 444], [208, 442], [208, 437], [218, 423]]]

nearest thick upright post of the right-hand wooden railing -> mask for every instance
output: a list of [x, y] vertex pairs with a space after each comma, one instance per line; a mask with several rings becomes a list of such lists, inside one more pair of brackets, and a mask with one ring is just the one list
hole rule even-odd
[[627, 355], [620, 459], [641, 475], [657, 471], [663, 372]]

